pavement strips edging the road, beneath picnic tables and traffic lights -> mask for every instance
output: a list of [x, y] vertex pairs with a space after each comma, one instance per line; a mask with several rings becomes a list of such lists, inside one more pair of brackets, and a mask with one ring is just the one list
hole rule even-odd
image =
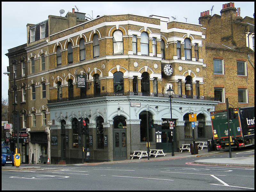
[[[192, 155], [188, 151], [183, 151], [182, 153], [174, 153], [174, 156], [172, 156], [172, 153], [166, 153], [165, 156], [157, 156], [156, 158], [154, 156], [150, 156], [149, 160], [148, 158], [139, 158], [134, 157], [132, 160], [120, 160], [120, 161], [106, 161], [106, 162], [99, 162], [99, 163], [84, 163], [84, 164], [72, 164], [72, 165], [99, 165], [99, 164], [116, 164], [116, 163], [131, 163], [131, 162], [145, 162], [145, 161], [158, 161], [158, 160], [167, 160], [167, 159], [178, 159], [178, 158], [186, 158], [186, 157], [195, 157], [198, 158], [198, 160], [194, 160], [192, 164], [202, 164], [202, 165], [221, 165], [221, 166], [237, 166], [237, 167], [254, 167], [254, 154], [249, 157], [233, 157], [233, 158], [209, 158], [209, 159], [200, 159], [200, 157], [203, 156], [209, 156], [218, 153], [226, 153], [225, 156], [229, 156], [229, 153], [225, 150], [220, 151], [212, 151], [208, 152], [208, 149], [205, 148], [203, 150], [198, 150], [198, 154]], [[234, 152], [231, 154], [232, 156], [235, 156]], [[51, 164], [49, 164], [51, 165]], [[69, 164], [71, 165], [71, 164]], [[2, 167], [2, 170], [20, 170], [20, 169], [40, 169], [41, 166], [46, 166], [43, 164], [20, 164], [19, 167], [16, 166], [4, 166]]]

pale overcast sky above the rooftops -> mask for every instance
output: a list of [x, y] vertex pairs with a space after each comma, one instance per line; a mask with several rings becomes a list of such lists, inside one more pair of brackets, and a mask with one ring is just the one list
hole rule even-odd
[[[176, 18], [179, 21], [199, 24], [198, 18], [203, 11], [211, 10], [212, 15], [220, 15], [223, 2], [2, 2], [2, 97], [8, 98], [8, 76], [3, 73], [9, 66], [8, 49], [27, 43], [26, 25], [38, 24], [48, 19], [49, 15], [60, 16], [60, 10], [65, 11], [63, 17], [72, 8], [86, 13], [88, 18], [98, 15], [131, 13], [135, 15], [157, 15]], [[240, 16], [253, 18], [254, 2], [233, 2], [240, 7]], [[76, 6], [76, 7], [75, 7]], [[211, 11], [210, 11], [211, 14]]]

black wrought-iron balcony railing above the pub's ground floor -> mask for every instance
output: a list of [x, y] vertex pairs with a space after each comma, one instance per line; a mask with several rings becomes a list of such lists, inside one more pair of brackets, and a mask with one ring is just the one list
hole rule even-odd
[[[169, 98], [169, 95], [167, 93], [143, 93], [143, 92], [131, 92], [127, 91], [124, 93], [111, 93], [111, 92], [104, 92], [100, 94], [90, 94], [86, 96], [74, 96], [71, 98], [63, 97], [60, 99], [50, 99], [47, 100], [48, 104], [50, 103], [59, 103], [59, 102], [68, 102], [68, 101], [77, 101], [82, 99], [90, 99], [90, 98], [98, 98], [98, 97], [118, 97], [118, 96], [148, 96], [148, 97], [163, 97], [163, 98]], [[189, 96], [189, 95], [179, 95], [179, 94], [173, 94], [172, 99], [191, 99], [191, 100], [204, 100], [204, 101], [218, 101], [214, 99], [214, 97], [208, 97], [208, 96]]]

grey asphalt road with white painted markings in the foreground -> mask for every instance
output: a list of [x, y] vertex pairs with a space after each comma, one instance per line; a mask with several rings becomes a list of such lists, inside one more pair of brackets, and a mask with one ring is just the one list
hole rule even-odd
[[[254, 156], [254, 149], [232, 158]], [[203, 158], [228, 158], [229, 153]], [[254, 168], [198, 165], [197, 157], [2, 170], [2, 190], [254, 190]], [[22, 165], [23, 166], [23, 165]]]

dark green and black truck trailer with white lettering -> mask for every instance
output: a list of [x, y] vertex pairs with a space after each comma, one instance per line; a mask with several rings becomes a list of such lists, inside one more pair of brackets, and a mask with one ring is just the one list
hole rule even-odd
[[[229, 118], [231, 148], [254, 145], [254, 107], [232, 110], [234, 116]], [[212, 111], [211, 120], [214, 146], [217, 149], [229, 147], [227, 110]]]

